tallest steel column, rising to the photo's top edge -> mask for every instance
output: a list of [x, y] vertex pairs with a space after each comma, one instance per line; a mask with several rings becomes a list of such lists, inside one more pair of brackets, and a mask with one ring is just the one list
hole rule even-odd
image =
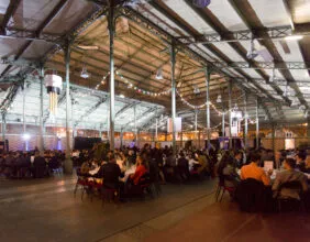
[[108, 13], [108, 29], [110, 36], [110, 148], [114, 151], [114, 121], [115, 121], [115, 80], [114, 80], [114, 1], [110, 1]]

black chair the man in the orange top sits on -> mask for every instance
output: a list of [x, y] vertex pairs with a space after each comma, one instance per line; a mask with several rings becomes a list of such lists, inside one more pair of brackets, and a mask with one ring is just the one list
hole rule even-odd
[[235, 198], [242, 211], [264, 211], [267, 206], [265, 186], [262, 182], [248, 178], [242, 180], [235, 190]]

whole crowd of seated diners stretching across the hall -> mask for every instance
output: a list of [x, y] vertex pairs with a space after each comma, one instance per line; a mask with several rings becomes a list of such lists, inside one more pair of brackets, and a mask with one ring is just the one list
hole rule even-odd
[[[121, 147], [96, 155], [92, 150], [71, 153], [79, 176], [104, 180], [103, 187], [118, 189], [123, 197], [136, 189], [145, 178], [156, 185], [187, 183], [192, 179], [219, 177], [220, 185], [230, 188], [232, 199], [244, 180], [253, 179], [268, 188], [274, 198], [300, 199], [300, 190], [283, 189], [287, 183], [300, 184], [303, 194], [309, 193], [310, 154], [294, 150], [274, 153], [270, 150], [179, 150], [152, 147]], [[65, 153], [45, 151], [9, 152], [0, 154], [0, 174], [7, 177], [46, 177], [62, 168]], [[269, 163], [266, 166], [265, 163]], [[270, 166], [272, 162], [272, 166]]]

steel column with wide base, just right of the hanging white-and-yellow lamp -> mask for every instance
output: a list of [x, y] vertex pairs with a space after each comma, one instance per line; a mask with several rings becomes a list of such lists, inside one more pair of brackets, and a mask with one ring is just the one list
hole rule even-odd
[[67, 40], [67, 43], [64, 48], [65, 55], [65, 65], [66, 65], [66, 161], [65, 161], [65, 173], [73, 173], [73, 161], [70, 158], [71, 148], [70, 148], [70, 43]]

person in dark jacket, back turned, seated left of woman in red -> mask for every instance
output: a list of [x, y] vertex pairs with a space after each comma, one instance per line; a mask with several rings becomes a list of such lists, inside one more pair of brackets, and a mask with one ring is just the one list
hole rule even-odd
[[103, 187], [108, 189], [119, 188], [119, 177], [121, 176], [120, 166], [117, 164], [114, 155], [110, 154], [108, 163], [103, 164], [96, 177], [103, 178]]

